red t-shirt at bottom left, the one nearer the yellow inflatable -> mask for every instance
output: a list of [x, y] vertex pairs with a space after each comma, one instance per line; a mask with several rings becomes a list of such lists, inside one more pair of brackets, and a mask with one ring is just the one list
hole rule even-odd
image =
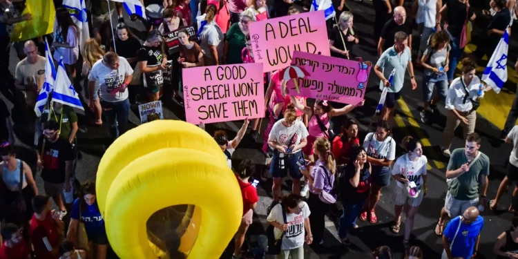
[[35, 215], [32, 215], [29, 226], [29, 235], [38, 259], [59, 258], [59, 253], [56, 253], [55, 255], [50, 253], [50, 251], [52, 251], [52, 247], [56, 247], [59, 242], [59, 233], [57, 233], [57, 229], [50, 212], [45, 220], [37, 220]]

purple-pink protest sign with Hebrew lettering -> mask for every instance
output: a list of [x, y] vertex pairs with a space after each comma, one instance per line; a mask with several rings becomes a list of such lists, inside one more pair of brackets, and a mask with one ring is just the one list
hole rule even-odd
[[[358, 104], [364, 99], [372, 63], [296, 51], [291, 65], [301, 68], [307, 75], [289, 79], [290, 95]], [[294, 80], [297, 80], [296, 84]]]

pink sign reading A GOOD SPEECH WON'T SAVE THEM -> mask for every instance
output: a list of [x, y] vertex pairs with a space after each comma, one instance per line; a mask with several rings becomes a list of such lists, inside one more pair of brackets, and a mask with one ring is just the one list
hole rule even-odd
[[184, 69], [186, 121], [199, 124], [265, 117], [262, 80], [260, 63]]

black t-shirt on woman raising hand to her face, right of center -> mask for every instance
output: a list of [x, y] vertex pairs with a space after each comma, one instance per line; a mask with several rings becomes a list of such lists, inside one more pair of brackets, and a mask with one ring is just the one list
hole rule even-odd
[[358, 187], [354, 188], [349, 182], [350, 179], [354, 178], [356, 169], [352, 166], [352, 163], [345, 167], [345, 174], [343, 179], [340, 181], [340, 195], [342, 195], [342, 203], [344, 204], [358, 204], [365, 202], [367, 196], [369, 196], [371, 174], [369, 171], [369, 162], [363, 165], [363, 169], [360, 171], [360, 182]]

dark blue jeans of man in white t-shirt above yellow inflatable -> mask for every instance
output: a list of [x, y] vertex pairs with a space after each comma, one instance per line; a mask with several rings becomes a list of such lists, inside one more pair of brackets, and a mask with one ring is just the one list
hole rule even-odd
[[115, 139], [128, 131], [129, 99], [119, 102], [104, 102], [101, 100], [102, 113], [106, 116], [106, 126]]

